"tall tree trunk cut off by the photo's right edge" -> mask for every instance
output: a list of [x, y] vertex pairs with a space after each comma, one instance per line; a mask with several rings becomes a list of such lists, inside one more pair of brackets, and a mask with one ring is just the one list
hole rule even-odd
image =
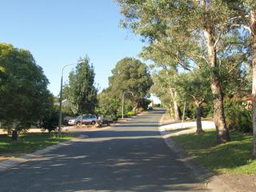
[[253, 100], [253, 157], [256, 158], [256, 12], [250, 10], [250, 30], [251, 30], [251, 51], [253, 67], [252, 100]]

